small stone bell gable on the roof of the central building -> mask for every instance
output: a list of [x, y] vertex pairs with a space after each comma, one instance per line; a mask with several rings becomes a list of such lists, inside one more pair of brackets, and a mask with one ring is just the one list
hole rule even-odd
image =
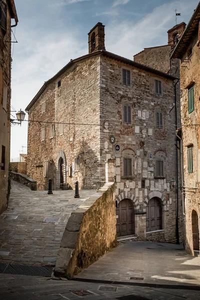
[[89, 53], [105, 50], [104, 25], [98, 22], [88, 33]]

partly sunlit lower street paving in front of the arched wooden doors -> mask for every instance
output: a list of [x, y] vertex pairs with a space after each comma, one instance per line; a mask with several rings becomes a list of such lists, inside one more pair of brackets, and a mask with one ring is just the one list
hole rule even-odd
[[76, 277], [200, 286], [200, 258], [186, 254], [182, 245], [127, 241], [121, 242]]

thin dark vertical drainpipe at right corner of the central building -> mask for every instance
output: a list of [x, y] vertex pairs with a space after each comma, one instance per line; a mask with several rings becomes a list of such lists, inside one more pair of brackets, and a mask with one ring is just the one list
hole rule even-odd
[[[174, 84], [174, 94], [175, 94], [175, 129], [177, 129], [177, 99], [176, 99], [176, 84], [178, 83], [179, 79]], [[175, 220], [175, 233], [176, 233], [176, 240], [179, 244], [179, 233], [178, 233], [178, 145], [176, 139], [176, 220]]]

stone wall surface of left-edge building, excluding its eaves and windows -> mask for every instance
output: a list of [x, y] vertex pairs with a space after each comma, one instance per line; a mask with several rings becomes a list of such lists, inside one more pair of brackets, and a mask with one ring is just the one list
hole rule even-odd
[[[7, 0], [4, 0], [7, 4]], [[11, 59], [11, 18], [7, 8], [7, 30], [0, 29], [0, 213], [8, 201], [8, 168], [10, 149], [10, 59]], [[8, 42], [5, 42], [8, 41]], [[3, 83], [4, 82], [4, 83]], [[7, 87], [6, 103], [3, 104], [3, 85]], [[6, 93], [4, 89], [4, 94]], [[5, 164], [1, 165], [2, 146], [5, 147]]]

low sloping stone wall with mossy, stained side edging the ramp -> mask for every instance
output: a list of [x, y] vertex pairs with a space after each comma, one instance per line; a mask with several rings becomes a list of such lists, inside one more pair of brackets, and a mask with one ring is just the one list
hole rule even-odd
[[71, 213], [55, 264], [55, 275], [71, 277], [117, 245], [115, 184], [104, 184]]

